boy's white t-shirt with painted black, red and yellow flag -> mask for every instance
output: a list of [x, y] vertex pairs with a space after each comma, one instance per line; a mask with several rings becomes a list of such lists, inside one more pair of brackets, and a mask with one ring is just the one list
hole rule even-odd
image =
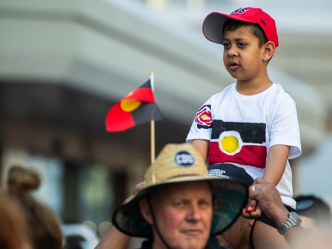
[[[291, 146], [289, 159], [301, 155], [295, 102], [276, 83], [256, 95], [239, 94], [236, 83], [213, 95], [197, 111], [186, 141], [193, 139], [210, 140], [209, 165], [231, 163], [253, 179], [263, 176], [271, 146]], [[288, 160], [277, 189], [283, 203], [295, 209]]]

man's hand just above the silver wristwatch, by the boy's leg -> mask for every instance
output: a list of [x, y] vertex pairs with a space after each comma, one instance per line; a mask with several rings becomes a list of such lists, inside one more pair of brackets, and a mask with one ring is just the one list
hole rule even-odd
[[249, 202], [257, 201], [255, 212], [247, 213], [242, 210], [242, 216], [250, 219], [258, 218], [262, 211], [271, 220], [282, 225], [289, 217], [289, 211], [284, 207], [279, 192], [274, 184], [264, 179], [256, 178], [249, 187]]

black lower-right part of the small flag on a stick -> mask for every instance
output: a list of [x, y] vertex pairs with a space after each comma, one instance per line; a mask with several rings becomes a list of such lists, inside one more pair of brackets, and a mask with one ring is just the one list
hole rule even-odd
[[163, 119], [160, 109], [155, 103], [142, 103], [139, 108], [131, 111], [131, 116], [135, 124], [142, 124], [152, 119], [154, 121]]

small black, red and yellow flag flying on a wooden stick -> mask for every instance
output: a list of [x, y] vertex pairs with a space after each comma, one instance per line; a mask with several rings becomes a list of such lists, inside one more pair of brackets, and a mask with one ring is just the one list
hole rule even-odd
[[108, 110], [106, 131], [124, 131], [152, 119], [159, 121], [162, 116], [148, 80]]

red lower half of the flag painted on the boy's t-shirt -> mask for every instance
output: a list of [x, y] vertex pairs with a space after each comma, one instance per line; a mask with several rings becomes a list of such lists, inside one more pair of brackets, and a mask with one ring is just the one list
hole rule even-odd
[[244, 145], [235, 155], [228, 155], [219, 148], [218, 142], [210, 142], [209, 165], [217, 163], [237, 163], [264, 169], [267, 160], [267, 147], [260, 145]]

